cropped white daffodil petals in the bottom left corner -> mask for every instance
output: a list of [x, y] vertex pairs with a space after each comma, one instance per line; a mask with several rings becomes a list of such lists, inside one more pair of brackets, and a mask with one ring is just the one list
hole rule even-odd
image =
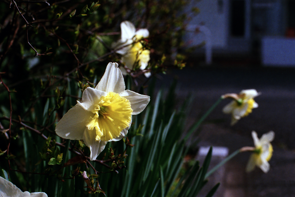
[[28, 191], [22, 192], [17, 186], [9, 180], [0, 177], [0, 196], [1, 197], [47, 197], [44, 192], [30, 193]]

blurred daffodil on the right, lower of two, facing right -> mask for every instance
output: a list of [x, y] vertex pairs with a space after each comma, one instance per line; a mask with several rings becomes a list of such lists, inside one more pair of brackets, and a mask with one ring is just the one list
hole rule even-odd
[[252, 137], [254, 140], [255, 150], [250, 156], [246, 167], [246, 172], [250, 172], [254, 170], [255, 166], [258, 166], [263, 172], [266, 173], [270, 167], [268, 161], [271, 159], [273, 154], [273, 146], [271, 146], [270, 142], [273, 141], [275, 133], [270, 131], [263, 134], [261, 138], [258, 139], [257, 133], [252, 131]]

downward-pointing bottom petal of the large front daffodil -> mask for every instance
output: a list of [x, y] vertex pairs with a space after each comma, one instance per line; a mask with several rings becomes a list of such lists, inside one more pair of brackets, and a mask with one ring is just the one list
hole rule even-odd
[[104, 150], [104, 147], [106, 146], [107, 141], [101, 141], [95, 140], [96, 133], [95, 131], [89, 131], [88, 129], [85, 129], [84, 135], [83, 135], [83, 141], [86, 144], [86, 146], [90, 149], [90, 160], [94, 161], [96, 157]]

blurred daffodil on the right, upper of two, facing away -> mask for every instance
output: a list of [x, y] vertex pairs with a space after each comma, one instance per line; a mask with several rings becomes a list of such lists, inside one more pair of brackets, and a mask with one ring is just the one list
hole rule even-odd
[[232, 114], [231, 125], [237, 123], [241, 117], [249, 115], [253, 108], [258, 108], [258, 104], [253, 98], [259, 94], [255, 89], [246, 89], [236, 95], [237, 98], [232, 97], [235, 100], [227, 104], [222, 110], [223, 113]]

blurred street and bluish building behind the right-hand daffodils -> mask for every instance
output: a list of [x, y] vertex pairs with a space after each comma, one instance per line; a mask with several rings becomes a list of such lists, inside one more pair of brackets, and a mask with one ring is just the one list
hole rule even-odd
[[161, 83], [178, 79], [180, 102], [193, 96], [187, 127], [225, 93], [261, 93], [255, 98], [259, 107], [234, 126], [230, 115], [222, 114], [230, 101], [222, 101], [192, 139], [200, 140], [196, 152], [200, 146], [216, 146], [213, 160], [218, 163], [224, 158], [220, 147], [230, 154], [253, 146], [253, 130], [258, 137], [276, 133], [270, 171], [246, 173], [250, 154], [239, 154], [209, 177], [209, 182], [222, 183], [215, 196], [295, 196], [295, 1], [191, 1], [187, 12], [192, 6], [199, 13], [186, 26], [183, 42], [198, 48], [189, 53], [185, 69], [159, 77]]

